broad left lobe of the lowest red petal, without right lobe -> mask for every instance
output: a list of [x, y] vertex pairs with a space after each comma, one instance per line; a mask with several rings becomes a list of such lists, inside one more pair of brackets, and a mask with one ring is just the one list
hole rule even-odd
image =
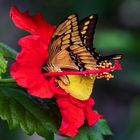
[[78, 128], [84, 124], [84, 112], [72, 104], [68, 96], [57, 96], [56, 98], [62, 116], [59, 133], [74, 137], [78, 133]]

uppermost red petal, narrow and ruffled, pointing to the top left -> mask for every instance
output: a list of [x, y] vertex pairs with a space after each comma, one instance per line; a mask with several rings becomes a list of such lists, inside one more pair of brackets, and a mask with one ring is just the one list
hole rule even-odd
[[33, 35], [39, 35], [48, 46], [55, 26], [47, 23], [39, 13], [35, 16], [30, 16], [28, 11], [21, 13], [13, 6], [10, 11], [10, 17], [17, 27]]

